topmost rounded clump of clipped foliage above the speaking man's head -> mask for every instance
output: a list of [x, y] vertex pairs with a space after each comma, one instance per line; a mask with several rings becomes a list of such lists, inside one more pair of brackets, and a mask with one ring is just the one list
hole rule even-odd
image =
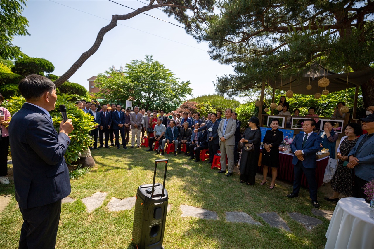
[[18, 59], [12, 68], [13, 73], [20, 74], [22, 76], [28, 76], [30, 74], [39, 74], [44, 76], [44, 72], [52, 73], [54, 70], [55, 66], [53, 66], [52, 62], [47, 61], [44, 58], [33, 57]]

